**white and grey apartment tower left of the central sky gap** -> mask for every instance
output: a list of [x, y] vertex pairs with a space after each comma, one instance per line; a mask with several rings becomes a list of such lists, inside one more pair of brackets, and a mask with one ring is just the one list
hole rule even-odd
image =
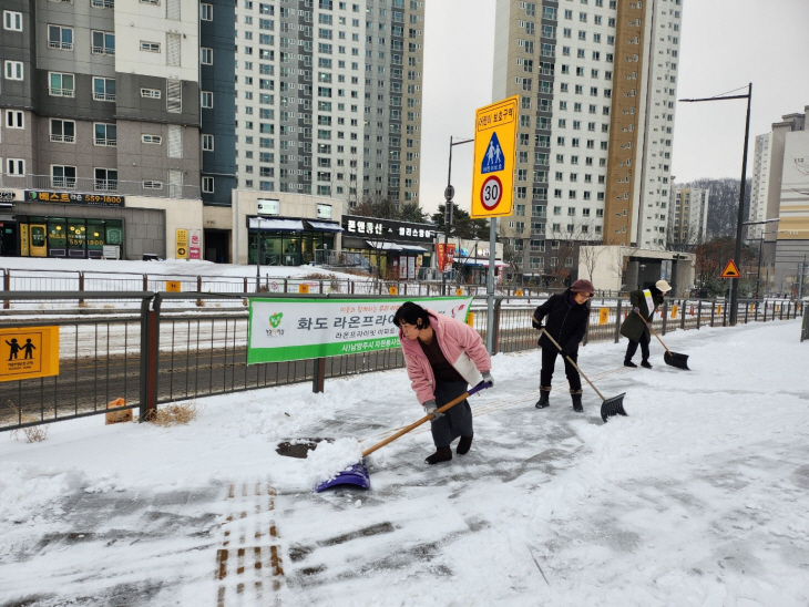
[[236, 8], [238, 187], [418, 202], [424, 2]]

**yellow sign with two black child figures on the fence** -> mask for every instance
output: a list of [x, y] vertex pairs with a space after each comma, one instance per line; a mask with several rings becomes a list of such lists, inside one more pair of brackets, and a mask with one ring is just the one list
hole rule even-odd
[[59, 327], [0, 329], [0, 381], [59, 374]]

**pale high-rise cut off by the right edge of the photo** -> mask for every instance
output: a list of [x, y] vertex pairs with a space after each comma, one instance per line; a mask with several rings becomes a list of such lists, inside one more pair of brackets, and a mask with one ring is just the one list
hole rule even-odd
[[[756, 137], [752, 199], [748, 220], [779, 219], [747, 226], [751, 245], [762, 254], [768, 290], [797, 292], [809, 263], [809, 105], [787, 114], [772, 131]], [[771, 271], [770, 271], [771, 270]], [[806, 288], [805, 288], [806, 291]]]

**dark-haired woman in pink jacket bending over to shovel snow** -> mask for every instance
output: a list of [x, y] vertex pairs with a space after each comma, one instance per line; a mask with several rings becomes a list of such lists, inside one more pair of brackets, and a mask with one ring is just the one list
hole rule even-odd
[[472, 446], [472, 409], [468, 401], [460, 402], [443, 413], [436, 410], [463, 394], [469, 384], [493, 381], [489, 353], [478, 332], [454, 318], [433, 312], [407, 301], [393, 317], [399, 327], [399, 341], [404, 352], [408, 377], [416, 398], [432, 419], [432, 440], [436, 453], [428, 464], [452, 459], [450, 444], [458, 436], [458, 454]]

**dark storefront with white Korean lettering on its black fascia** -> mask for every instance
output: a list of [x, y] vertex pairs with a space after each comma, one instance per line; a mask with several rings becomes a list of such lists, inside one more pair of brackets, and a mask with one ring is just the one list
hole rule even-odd
[[344, 215], [342, 228], [342, 249], [360, 253], [366, 269], [388, 280], [413, 280], [432, 264], [432, 224]]

